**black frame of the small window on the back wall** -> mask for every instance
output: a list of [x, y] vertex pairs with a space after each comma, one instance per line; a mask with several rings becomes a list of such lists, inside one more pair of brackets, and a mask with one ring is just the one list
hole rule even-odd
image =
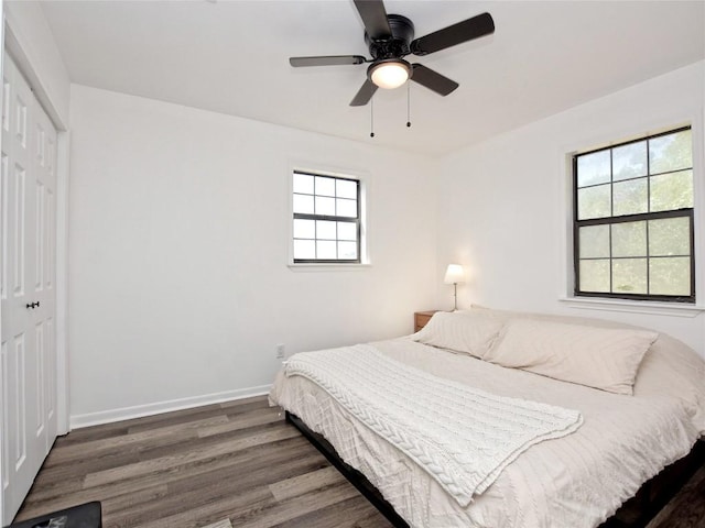
[[[294, 212], [293, 200], [294, 193], [293, 190], [293, 182], [294, 175], [302, 174], [306, 176], [323, 177], [323, 178], [332, 178], [337, 180], [345, 182], [354, 182], [356, 184], [356, 205], [357, 211], [355, 217], [340, 217], [336, 215], [316, 215], [316, 213], [302, 213]], [[289, 173], [290, 177], [290, 193], [289, 193], [289, 201], [290, 201], [290, 265], [293, 266], [360, 266], [365, 264], [364, 256], [364, 183], [361, 178], [352, 176], [352, 175], [343, 175], [334, 172], [322, 172], [322, 170], [311, 170], [304, 168], [292, 168]], [[314, 197], [318, 196], [315, 194], [311, 195]], [[346, 222], [346, 223], [355, 223], [356, 227], [356, 243], [357, 243], [357, 258], [295, 258], [294, 256], [294, 221], [295, 220], [322, 220], [322, 221], [334, 221], [334, 222]], [[311, 240], [311, 239], [306, 239]], [[314, 241], [317, 239], [313, 239]], [[339, 239], [336, 238], [336, 243], [339, 242]]]

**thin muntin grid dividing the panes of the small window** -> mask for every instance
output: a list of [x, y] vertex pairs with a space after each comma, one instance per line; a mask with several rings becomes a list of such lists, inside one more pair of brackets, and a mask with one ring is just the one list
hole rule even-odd
[[[314, 179], [314, 188], [313, 188], [313, 194], [307, 194], [307, 193], [293, 193], [292, 196], [296, 196], [296, 195], [301, 195], [301, 196], [312, 196], [314, 199], [314, 212], [313, 213], [303, 213], [303, 212], [294, 212], [293, 213], [293, 218], [294, 220], [313, 220], [314, 221], [314, 239], [296, 239], [293, 238], [293, 241], [296, 240], [307, 240], [307, 241], [313, 241], [314, 243], [314, 250], [317, 254], [318, 251], [318, 244], [317, 242], [323, 241], [323, 242], [335, 242], [336, 245], [336, 256], [338, 256], [337, 258], [318, 258], [317, 256], [314, 258], [296, 258], [295, 256], [293, 257], [293, 262], [294, 264], [359, 264], [362, 262], [361, 260], [361, 221], [360, 221], [360, 212], [361, 212], [361, 200], [360, 200], [360, 196], [361, 196], [361, 191], [360, 191], [360, 180], [359, 179], [355, 179], [355, 178], [346, 178], [346, 177], [341, 177], [341, 176], [330, 176], [330, 175], [326, 175], [326, 174], [316, 174], [316, 173], [308, 173], [308, 172], [303, 172], [303, 170], [294, 170], [293, 172], [293, 176], [295, 177], [295, 175], [304, 175], [304, 176], [312, 176]], [[335, 180], [335, 185], [334, 185], [334, 195], [317, 195], [316, 194], [316, 183], [317, 183], [317, 178], [328, 178], [328, 179], [333, 179]], [[338, 196], [338, 182], [351, 182], [355, 184], [356, 189], [355, 189], [355, 198], [347, 198], [347, 197], [339, 197]], [[355, 201], [355, 210], [356, 210], [356, 216], [355, 217], [343, 217], [343, 216], [337, 216], [337, 215], [316, 215], [316, 197], [324, 197], [324, 198], [333, 198], [334, 200], [336, 200], [335, 202], [335, 211], [337, 212], [337, 208], [338, 208], [338, 204], [337, 200], [349, 200], [349, 201]], [[336, 239], [318, 239], [318, 234], [317, 234], [317, 223], [315, 223], [318, 220], [323, 220], [323, 221], [333, 221], [336, 222]], [[356, 239], [352, 240], [348, 240], [348, 239], [340, 239], [338, 235], [338, 222], [343, 222], [343, 223], [350, 223], [355, 226], [355, 233], [356, 233]], [[293, 233], [292, 233], [293, 237]], [[340, 248], [340, 242], [344, 243], [349, 243], [349, 242], [355, 242], [356, 244], [356, 257], [355, 258], [340, 258], [338, 255], [339, 252], [339, 248]]]

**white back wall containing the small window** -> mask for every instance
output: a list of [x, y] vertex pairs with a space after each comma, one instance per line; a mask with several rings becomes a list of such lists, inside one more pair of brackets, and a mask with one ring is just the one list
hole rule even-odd
[[[426, 158], [76, 85], [70, 127], [75, 425], [261, 392], [276, 343], [411, 333], [433, 306]], [[288, 267], [295, 162], [367, 174], [371, 266]]]

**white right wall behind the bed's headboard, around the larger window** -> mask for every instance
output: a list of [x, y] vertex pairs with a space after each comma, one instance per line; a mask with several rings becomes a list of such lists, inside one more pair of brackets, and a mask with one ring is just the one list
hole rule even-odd
[[[623, 320], [670, 332], [705, 355], [703, 315], [587, 311], [558, 300], [568, 293], [572, 275], [566, 154], [691, 121], [697, 200], [704, 206], [704, 77], [701, 62], [444, 158], [437, 195], [438, 268], [455, 261], [468, 267], [470, 279], [458, 286], [458, 304]], [[702, 209], [695, 227], [701, 294]], [[449, 288], [440, 290], [437, 306], [452, 306]], [[699, 302], [704, 300], [701, 295]]]

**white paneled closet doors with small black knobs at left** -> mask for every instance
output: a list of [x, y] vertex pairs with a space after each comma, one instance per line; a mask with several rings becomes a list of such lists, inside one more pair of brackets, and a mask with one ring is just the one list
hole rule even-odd
[[0, 287], [3, 515], [22, 504], [56, 438], [56, 131], [6, 54]]

